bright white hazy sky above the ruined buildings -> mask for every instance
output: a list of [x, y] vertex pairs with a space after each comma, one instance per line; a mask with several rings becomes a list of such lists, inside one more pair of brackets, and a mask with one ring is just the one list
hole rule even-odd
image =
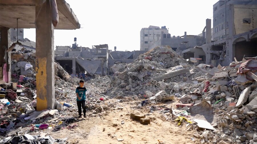
[[[79, 19], [77, 30], [55, 30], [55, 46], [108, 44], [118, 51], [140, 50], [140, 30], [166, 26], [171, 36], [200, 34], [206, 18], [212, 19], [218, 0], [66, 0]], [[24, 38], [35, 41], [35, 29], [24, 29]]]

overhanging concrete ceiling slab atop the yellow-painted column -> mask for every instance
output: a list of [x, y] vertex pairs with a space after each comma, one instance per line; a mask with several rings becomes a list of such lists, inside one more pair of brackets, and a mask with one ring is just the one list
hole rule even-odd
[[[80, 28], [79, 21], [65, 0], [56, 0], [59, 23], [55, 29]], [[0, 26], [8, 28], [35, 28], [35, 1], [33, 0], [1, 0]]]

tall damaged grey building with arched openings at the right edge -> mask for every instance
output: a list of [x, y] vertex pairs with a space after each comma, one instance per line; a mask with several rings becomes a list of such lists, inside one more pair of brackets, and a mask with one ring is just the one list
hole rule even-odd
[[[256, 1], [218, 1], [213, 5], [213, 41], [211, 20], [206, 20], [206, 64], [229, 65], [257, 55]], [[193, 52], [192, 52], [193, 53]]]

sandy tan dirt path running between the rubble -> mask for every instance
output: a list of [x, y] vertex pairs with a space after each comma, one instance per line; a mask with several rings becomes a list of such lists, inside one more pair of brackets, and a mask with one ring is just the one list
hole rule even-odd
[[[116, 99], [107, 100], [115, 103]], [[174, 103], [160, 104], [170, 107]], [[99, 114], [87, 112], [89, 117], [82, 118], [80, 122], [73, 123], [79, 126], [75, 129], [62, 129], [60, 131], [44, 132], [53, 138], [68, 138], [69, 143], [79, 144], [157, 144], [159, 141], [168, 144], [189, 144], [194, 143], [192, 137], [193, 131], [186, 131], [186, 126], [177, 126], [176, 122], [166, 120], [167, 115], [158, 111], [149, 112], [149, 107], [143, 107], [141, 110], [134, 110], [134, 102], [115, 103], [116, 108], [111, 108]], [[123, 109], [120, 109], [123, 108]], [[150, 114], [146, 118], [151, 119], [148, 125], [142, 125], [137, 121], [130, 119], [130, 113]], [[166, 113], [167, 114], [167, 113]], [[125, 124], [121, 124], [124, 120]], [[118, 126], [113, 126], [117, 124]], [[105, 131], [103, 131], [105, 129]], [[118, 141], [117, 139], [124, 139]]]

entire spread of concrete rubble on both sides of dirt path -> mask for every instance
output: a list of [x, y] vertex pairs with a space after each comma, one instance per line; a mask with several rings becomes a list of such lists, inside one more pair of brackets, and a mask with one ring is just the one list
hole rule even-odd
[[[15, 122], [15, 125], [24, 126], [22, 129], [28, 129], [26, 124], [32, 124], [34, 128], [36, 124], [54, 124], [56, 131], [77, 122], [74, 91], [80, 79], [70, 77], [61, 65], [55, 63], [55, 110], [37, 112], [35, 53], [11, 53], [12, 79], [17, 84], [0, 85], [3, 88], [0, 94], [4, 95], [0, 99], [1, 122], [8, 123], [9, 127], [14, 127], [12, 123]], [[29, 63], [23, 62], [25, 60]], [[251, 61], [255, 63], [256, 60]], [[256, 69], [239, 63], [242, 64], [219, 65], [218, 68], [187, 64], [169, 46], [156, 47], [140, 54], [132, 63], [113, 65], [111, 76], [93, 75], [88, 79], [85, 83], [87, 114], [105, 116], [108, 110], [122, 111], [120, 104], [128, 104], [134, 111], [126, 116], [141, 124], [153, 123], [154, 118], [148, 118], [153, 113], [164, 116], [164, 120], [171, 124], [176, 124], [176, 118], [191, 122], [194, 119], [196, 123], [187, 125], [187, 129], [188, 132], [194, 131], [198, 143], [255, 142], [257, 82], [249, 72], [255, 73]], [[113, 101], [106, 102], [108, 99]], [[127, 124], [128, 119], [123, 120]], [[7, 126], [3, 131], [1, 126], [0, 138], [3, 138], [2, 134], [7, 135]], [[113, 126], [119, 129], [118, 124]]]

